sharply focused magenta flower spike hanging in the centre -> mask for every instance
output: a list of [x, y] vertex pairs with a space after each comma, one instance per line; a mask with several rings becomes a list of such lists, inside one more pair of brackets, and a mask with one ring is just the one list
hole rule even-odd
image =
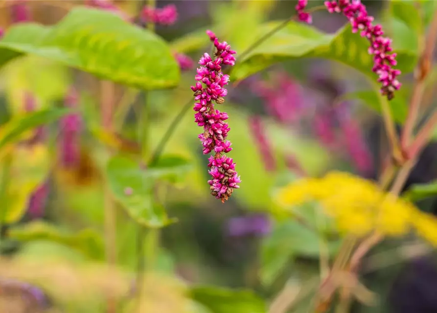
[[209, 39], [214, 43], [214, 58], [207, 53], [200, 59], [201, 67], [197, 68], [195, 77], [197, 83], [191, 87], [194, 91], [194, 99], [198, 102], [194, 104], [195, 121], [198, 126], [204, 128], [204, 132], [199, 134], [199, 139], [203, 145], [203, 153], [211, 155], [208, 160], [209, 174], [212, 179], [208, 180], [211, 194], [222, 202], [228, 200], [235, 188], [239, 188], [240, 176], [235, 171], [235, 163], [232, 158], [225, 154], [230, 152], [231, 143], [227, 140], [230, 127], [226, 120], [228, 114], [215, 110], [213, 102], [223, 104], [224, 97], [228, 90], [224, 87], [229, 82], [229, 75], [222, 73], [223, 65], [233, 66], [235, 64], [236, 52], [230, 49], [228, 43], [220, 43], [215, 34], [207, 30]]

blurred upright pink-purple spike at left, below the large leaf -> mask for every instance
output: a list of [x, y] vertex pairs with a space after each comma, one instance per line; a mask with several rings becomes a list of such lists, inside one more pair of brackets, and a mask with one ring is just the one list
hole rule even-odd
[[[77, 106], [76, 90], [71, 89], [65, 99], [65, 106], [74, 108]], [[80, 131], [82, 130], [82, 117], [78, 113], [71, 113], [60, 121], [60, 156], [61, 164], [65, 168], [77, 165], [80, 158]]]

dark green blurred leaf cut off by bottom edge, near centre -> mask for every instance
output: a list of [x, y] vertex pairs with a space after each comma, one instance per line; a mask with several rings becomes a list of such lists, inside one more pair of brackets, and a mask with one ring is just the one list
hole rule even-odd
[[209, 309], [211, 313], [266, 313], [263, 299], [252, 291], [218, 287], [193, 287], [189, 297]]

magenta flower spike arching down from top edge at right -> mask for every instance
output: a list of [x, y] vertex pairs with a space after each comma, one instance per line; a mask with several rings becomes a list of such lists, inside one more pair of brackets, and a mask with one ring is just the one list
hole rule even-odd
[[[311, 17], [304, 12], [307, 3], [307, 0], [299, 0], [296, 6], [299, 21], [311, 22]], [[391, 39], [383, 37], [382, 26], [372, 24], [374, 18], [368, 15], [366, 5], [361, 3], [361, 0], [329, 0], [325, 1], [324, 5], [329, 13], [343, 13], [352, 25], [352, 32], [361, 30], [361, 37], [368, 39], [368, 53], [373, 55], [372, 70], [378, 74], [378, 82], [382, 83], [381, 93], [391, 100], [394, 91], [401, 87], [401, 83], [396, 79], [401, 71], [393, 68], [397, 65], [396, 53], [391, 53]]]

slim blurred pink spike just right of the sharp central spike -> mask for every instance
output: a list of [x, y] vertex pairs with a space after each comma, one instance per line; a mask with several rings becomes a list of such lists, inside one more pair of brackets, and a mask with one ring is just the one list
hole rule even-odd
[[264, 129], [262, 119], [259, 116], [250, 116], [248, 122], [250, 132], [251, 134], [253, 134], [255, 143], [259, 150], [259, 154], [264, 161], [264, 167], [266, 171], [275, 171], [276, 160], [275, 156], [272, 153], [273, 149], [270, 147], [269, 141], [266, 137], [266, 131]]

